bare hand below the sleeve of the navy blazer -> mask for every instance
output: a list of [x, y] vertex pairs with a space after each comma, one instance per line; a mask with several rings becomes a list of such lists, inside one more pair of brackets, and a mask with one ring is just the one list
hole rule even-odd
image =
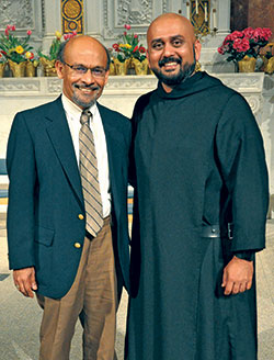
[[13, 270], [13, 281], [18, 290], [22, 292], [23, 295], [27, 297], [34, 296], [33, 290], [37, 290], [34, 267]]

